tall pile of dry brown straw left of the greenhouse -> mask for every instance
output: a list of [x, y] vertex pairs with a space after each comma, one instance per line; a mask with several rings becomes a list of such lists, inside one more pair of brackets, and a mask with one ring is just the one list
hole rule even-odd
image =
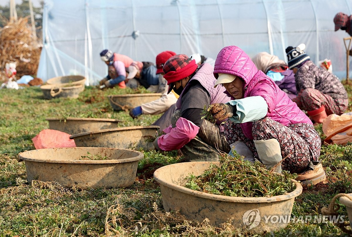
[[0, 29], [0, 80], [7, 81], [6, 63], [15, 62], [17, 75], [36, 75], [41, 47], [33, 38], [28, 18], [10, 19]]

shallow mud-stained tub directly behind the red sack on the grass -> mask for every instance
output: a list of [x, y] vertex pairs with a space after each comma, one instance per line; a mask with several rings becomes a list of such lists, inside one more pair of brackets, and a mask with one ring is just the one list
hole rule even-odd
[[121, 120], [105, 118], [47, 118], [49, 129], [70, 135], [117, 127]]

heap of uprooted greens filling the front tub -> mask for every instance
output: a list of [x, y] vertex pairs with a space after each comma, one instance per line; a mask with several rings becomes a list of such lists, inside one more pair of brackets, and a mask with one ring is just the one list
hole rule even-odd
[[211, 164], [199, 176], [186, 177], [186, 188], [231, 197], [272, 197], [292, 192], [292, 174], [272, 172], [260, 162], [251, 163], [233, 152], [234, 157], [222, 154], [220, 165]]

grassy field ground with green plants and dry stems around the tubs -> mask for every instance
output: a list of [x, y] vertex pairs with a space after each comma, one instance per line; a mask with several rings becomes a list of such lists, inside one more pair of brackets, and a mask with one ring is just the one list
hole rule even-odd
[[[346, 89], [351, 95], [350, 86]], [[17, 155], [34, 149], [31, 139], [49, 128], [45, 118], [115, 118], [123, 120], [119, 123], [123, 127], [150, 125], [160, 116], [133, 120], [127, 112], [114, 112], [106, 96], [121, 93], [121, 89], [86, 87], [78, 99], [44, 100], [38, 87], [0, 90], [0, 236], [252, 236], [228, 223], [213, 227], [163, 210], [160, 187], [152, 174], [159, 167], [182, 162], [176, 151], [144, 152], [130, 188], [82, 190], [27, 182], [25, 164], [17, 161]], [[316, 130], [323, 139], [321, 125]], [[327, 182], [304, 189], [295, 199], [292, 217], [319, 216], [336, 194], [352, 193], [351, 145], [324, 145], [320, 159]], [[338, 212], [348, 220], [345, 206]], [[332, 222], [303, 219], [257, 236], [347, 234]]]

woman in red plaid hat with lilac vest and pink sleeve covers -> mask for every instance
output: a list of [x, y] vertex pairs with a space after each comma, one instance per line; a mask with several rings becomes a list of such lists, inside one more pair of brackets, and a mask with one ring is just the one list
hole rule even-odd
[[224, 136], [222, 121], [215, 124], [201, 119], [202, 110], [213, 103], [225, 103], [229, 98], [222, 87], [214, 88], [213, 67], [208, 63], [196, 64], [185, 54], [172, 56], [163, 66], [164, 78], [180, 95], [176, 102], [171, 125], [153, 142], [157, 150], [178, 150], [189, 161], [216, 161], [230, 146]]

